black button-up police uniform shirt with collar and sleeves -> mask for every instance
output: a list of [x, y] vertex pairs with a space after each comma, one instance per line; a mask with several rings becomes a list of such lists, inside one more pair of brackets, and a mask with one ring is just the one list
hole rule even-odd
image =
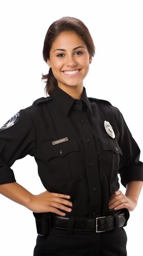
[[66, 216], [105, 216], [113, 211], [108, 204], [119, 189], [118, 173], [123, 186], [143, 180], [140, 150], [123, 116], [108, 101], [88, 98], [85, 88], [79, 100], [56, 86], [53, 96], [19, 113], [13, 126], [0, 131], [0, 184], [15, 182], [10, 167], [29, 154], [45, 189], [70, 195]]

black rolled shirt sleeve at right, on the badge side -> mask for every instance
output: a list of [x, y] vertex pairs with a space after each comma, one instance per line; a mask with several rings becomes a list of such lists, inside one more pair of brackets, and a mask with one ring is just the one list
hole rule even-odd
[[143, 181], [143, 163], [139, 160], [140, 149], [132, 137], [128, 126], [126, 125], [121, 112], [119, 112], [119, 145], [123, 152], [120, 156], [119, 174], [121, 184], [126, 186], [128, 182], [134, 180]]

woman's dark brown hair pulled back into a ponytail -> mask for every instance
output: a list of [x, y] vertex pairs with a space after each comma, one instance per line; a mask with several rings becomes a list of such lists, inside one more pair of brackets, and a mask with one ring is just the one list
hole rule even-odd
[[[52, 44], [57, 38], [57, 36], [59, 36], [59, 34], [63, 31], [75, 31], [86, 44], [89, 54], [91, 54], [92, 56], [95, 55], [95, 45], [93, 43], [92, 37], [86, 25], [84, 25], [84, 23], [77, 18], [63, 17], [53, 22], [51, 26], [48, 28], [43, 47], [44, 61], [47, 62], [47, 60], [50, 59], [50, 50]], [[52, 95], [55, 89], [55, 85], [57, 85], [57, 79], [53, 75], [51, 68], [49, 69], [48, 74], [42, 74], [42, 80], [46, 80], [46, 94]]]

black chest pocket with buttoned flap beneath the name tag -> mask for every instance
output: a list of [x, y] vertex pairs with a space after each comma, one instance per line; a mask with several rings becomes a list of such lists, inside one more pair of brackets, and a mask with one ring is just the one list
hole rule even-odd
[[46, 159], [51, 180], [56, 182], [75, 180], [82, 174], [79, 145], [76, 137], [59, 144], [47, 143]]

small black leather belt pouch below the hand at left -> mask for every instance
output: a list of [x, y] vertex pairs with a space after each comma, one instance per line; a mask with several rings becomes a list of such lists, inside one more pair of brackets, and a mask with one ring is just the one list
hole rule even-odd
[[36, 221], [37, 234], [46, 236], [51, 231], [51, 215], [50, 213], [33, 212]]

